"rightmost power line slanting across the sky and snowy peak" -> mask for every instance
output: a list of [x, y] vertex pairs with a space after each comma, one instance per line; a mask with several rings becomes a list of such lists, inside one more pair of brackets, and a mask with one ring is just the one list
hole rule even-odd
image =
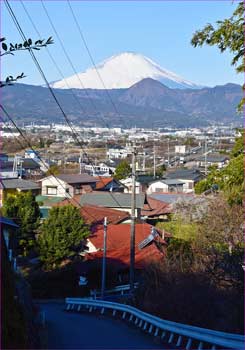
[[[117, 113], [117, 115], [118, 115], [119, 118], [121, 119], [121, 115], [120, 115], [120, 113], [119, 113], [119, 111], [118, 111], [118, 109], [117, 109], [117, 107], [116, 107], [116, 105], [115, 105], [115, 103], [114, 103], [114, 101], [113, 101], [113, 99], [112, 99], [112, 97], [111, 97], [111, 95], [110, 95], [110, 93], [109, 93], [109, 91], [108, 91], [106, 85], [105, 85], [104, 80], [102, 79], [102, 76], [101, 76], [100, 72], [99, 72], [98, 69], [97, 69], [97, 66], [96, 66], [95, 61], [94, 61], [93, 56], [92, 56], [92, 53], [91, 53], [91, 51], [90, 51], [90, 49], [89, 49], [89, 47], [88, 47], [88, 44], [87, 44], [87, 41], [86, 41], [84, 35], [83, 35], [81, 26], [80, 26], [80, 24], [79, 24], [79, 22], [78, 22], [78, 20], [77, 20], [77, 18], [76, 18], [76, 16], [75, 16], [75, 13], [74, 13], [73, 8], [72, 8], [72, 6], [71, 6], [70, 0], [67, 0], [67, 3], [68, 3], [68, 6], [69, 6], [69, 8], [70, 8], [70, 11], [71, 11], [72, 17], [73, 17], [73, 19], [74, 19], [74, 22], [75, 22], [75, 24], [76, 24], [76, 26], [77, 26], [78, 32], [79, 32], [79, 34], [80, 34], [80, 37], [81, 37], [81, 39], [82, 39], [82, 42], [83, 42], [83, 44], [84, 44], [84, 46], [85, 46], [85, 48], [86, 48], [86, 50], [87, 50], [87, 53], [88, 53], [88, 55], [89, 55], [89, 58], [90, 58], [90, 60], [91, 60], [91, 62], [92, 62], [92, 64], [93, 64], [93, 66], [94, 66], [94, 69], [95, 69], [95, 71], [96, 71], [96, 73], [97, 73], [97, 76], [98, 76], [98, 78], [99, 78], [99, 80], [100, 80], [102, 86], [104, 87], [104, 90], [106, 91], [107, 97], [108, 97], [109, 101], [111, 102], [112, 107], [114, 108], [115, 112]], [[121, 120], [123, 121], [123, 124], [124, 124], [124, 125], [126, 126], [126, 128], [127, 128], [127, 125], [125, 124], [124, 119], [121, 119]]]

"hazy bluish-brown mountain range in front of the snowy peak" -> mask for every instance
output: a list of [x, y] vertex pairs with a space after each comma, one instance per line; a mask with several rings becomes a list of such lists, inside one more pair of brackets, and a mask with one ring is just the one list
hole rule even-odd
[[[15, 84], [1, 92], [1, 103], [15, 121], [65, 122], [45, 87]], [[242, 89], [236, 84], [173, 89], [146, 78], [125, 89], [54, 89], [54, 92], [68, 118], [84, 126], [198, 127], [214, 122], [242, 123], [236, 114]]]

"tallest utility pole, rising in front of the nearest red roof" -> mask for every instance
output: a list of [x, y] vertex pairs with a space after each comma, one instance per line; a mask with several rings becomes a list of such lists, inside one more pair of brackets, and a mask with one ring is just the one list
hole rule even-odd
[[136, 146], [135, 142], [132, 147], [132, 194], [131, 194], [131, 230], [130, 230], [130, 271], [129, 283], [130, 292], [134, 292], [134, 263], [135, 263], [135, 160], [136, 160]]

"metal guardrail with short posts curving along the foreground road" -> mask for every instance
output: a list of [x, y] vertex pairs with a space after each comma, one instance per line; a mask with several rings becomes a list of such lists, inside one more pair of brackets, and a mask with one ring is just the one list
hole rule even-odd
[[[82, 298], [66, 298], [67, 311], [81, 311], [84, 307], [89, 312], [100, 310], [112, 311], [112, 315], [119, 314], [122, 319], [133, 322], [142, 330], [159, 336], [165, 343], [174, 344], [181, 349], [244, 349], [244, 336], [232, 333], [213, 331], [210, 329], [189, 326], [172, 321], [162, 320], [130, 305], [119, 304], [103, 300]], [[204, 347], [205, 346], [205, 347]]]

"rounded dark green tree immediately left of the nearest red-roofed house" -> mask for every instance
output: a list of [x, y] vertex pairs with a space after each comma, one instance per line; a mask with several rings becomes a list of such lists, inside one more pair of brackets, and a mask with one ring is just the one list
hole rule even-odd
[[47, 269], [56, 268], [64, 258], [75, 254], [75, 248], [89, 234], [78, 208], [52, 208], [38, 237], [41, 261]]

